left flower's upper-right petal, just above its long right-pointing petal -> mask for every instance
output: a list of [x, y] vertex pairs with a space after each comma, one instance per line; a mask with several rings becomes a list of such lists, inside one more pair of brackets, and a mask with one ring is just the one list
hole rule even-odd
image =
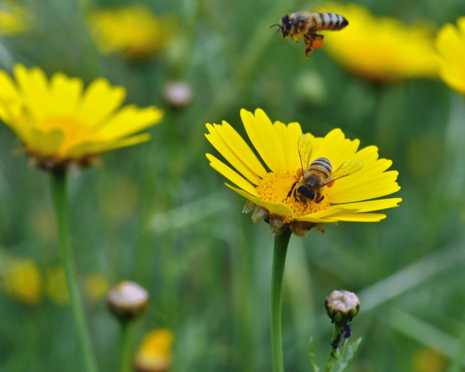
[[125, 95], [123, 87], [112, 87], [103, 78], [95, 79], [85, 91], [76, 117], [90, 127], [99, 124], [121, 106]]

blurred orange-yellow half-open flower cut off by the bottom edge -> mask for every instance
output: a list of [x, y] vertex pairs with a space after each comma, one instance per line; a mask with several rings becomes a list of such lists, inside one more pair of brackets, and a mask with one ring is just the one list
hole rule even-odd
[[137, 351], [134, 367], [138, 372], [165, 372], [171, 366], [174, 335], [167, 328], [148, 332]]

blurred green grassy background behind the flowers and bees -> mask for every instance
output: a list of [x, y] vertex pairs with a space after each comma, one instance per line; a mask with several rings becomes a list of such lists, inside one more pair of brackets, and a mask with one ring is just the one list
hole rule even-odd
[[[165, 111], [149, 129], [150, 142], [105, 154], [101, 167], [70, 177], [83, 291], [95, 273], [103, 274], [103, 287], [123, 279], [145, 286], [151, 304], [137, 322], [134, 348], [148, 330], [170, 328], [174, 372], [271, 371], [273, 237], [266, 223], [241, 214], [245, 200], [208, 166], [205, 153], [217, 153], [203, 135], [205, 123], [221, 120], [245, 135], [239, 110], [261, 107], [272, 121], [298, 121], [319, 136], [341, 127], [361, 147], [378, 146], [402, 186], [393, 195], [403, 198], [400, 207], [379, 223], [342, 222], [326, 226], [324, 235], [291, 238], [285, 369], [310, 371], [310, 336], [323, 364], [332, 335], [324, 298], [348, 289], [361, 300], [353, 338], [363, 337], [352, 371], [447, 371], [465, 333], [463, 98], [439, 79], [363, 80], [323, 50], [306, 60], [302, 41], [282, 40], [267, 27], [312, 6], [307, 2], [143, 3], [176, 19], [168, 46], [145, 60], [104, 56], [93, 44], [88, 11], [127, 5], [123, 0], [23, 1], [31, 30], [0, 39], [0, 65], [8, 72], [22, 62], [87, 83], [103, 76], [126, 88], [126, 103]], [[459, 0], [360, 4], [375, 15], [427, 19], [437, 28], [465, 14]], [[193, 91], [185, 108], [163, 100], [173, 79]], [[69, 307], [47, 295], [50, 270], [60, 262], [49, 176], [14, 155], [18, 147], [0, 126], [0, 276], [10, 260], [31, 259], [43, 290], [33, 303], [0, 290], [0, 371], [82, 371]], [[105, 300], [95, 298], [85, 296], [98, 364], [115, 371], [118, 324]]]

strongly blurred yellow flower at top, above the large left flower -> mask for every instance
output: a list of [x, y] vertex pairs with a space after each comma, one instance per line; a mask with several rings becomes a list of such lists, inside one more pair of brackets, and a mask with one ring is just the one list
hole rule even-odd
[[163, 50], [175, 31], [172, 19], [156, 17], [142, 4], [94, 11], [89, 24], [103, 54], [122, 52], [129, 59], [144, 59]]

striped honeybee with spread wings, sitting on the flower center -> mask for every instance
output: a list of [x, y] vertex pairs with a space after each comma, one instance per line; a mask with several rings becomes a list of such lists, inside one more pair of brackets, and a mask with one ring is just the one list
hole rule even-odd
[[363, 163], [358, 160], [346, 160], [333, 172], [333, 166], [326, 157], [318, 157], [310, 163], [313, 146], [311, 139], [305, 134], [301, 134], [297, 140], [297, 149], [302, 174], [299, 169], [297, 172], [298, 179], [292, 184], [286, 199], [294, 191], [295, 201], [303, 202], [306, 209], [307, 200], [320, 203], [324, 199], [324, 195], [322, 195], [324, 187], [333, 186], [336, 180], [358, 172], [363, 167]]

